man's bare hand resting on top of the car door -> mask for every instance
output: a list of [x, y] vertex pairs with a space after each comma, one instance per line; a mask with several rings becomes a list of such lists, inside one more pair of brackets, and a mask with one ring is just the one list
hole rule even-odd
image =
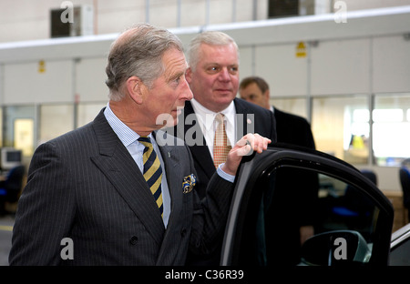
[[228, 158], [221, 169], [225, 173], [235, 176], [243, 156], [251, 155], [253, 151], [261, 153], [268, 148], [268, 144], [271, 142], [271, 139], [261, 137], [257, 133], [248, 133], [244, 137], [241, 137], [241, 140], [231, 148], [231, 151], [228, 153]]

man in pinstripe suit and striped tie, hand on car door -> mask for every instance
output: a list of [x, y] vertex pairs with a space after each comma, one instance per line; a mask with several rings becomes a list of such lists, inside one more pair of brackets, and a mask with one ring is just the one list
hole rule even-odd
[[192, 96], [186, 69], [167, 30], [140, 24], [118, 36], [106, 68], [108, 106], [36, 149], [11, 265], [183, 265], [189, 249], [209, 252], [241, 155], [261, 152], [269, 139], [243, 137], [200, 200], [189, 148], [159, 130], [177, 122]]

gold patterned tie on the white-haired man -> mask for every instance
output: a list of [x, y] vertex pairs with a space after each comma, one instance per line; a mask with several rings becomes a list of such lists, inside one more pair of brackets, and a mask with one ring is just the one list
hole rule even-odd
[[215, 117], [215, 122], [217, 124], [215, 138], [213, 140], [213, 164], [215, 167], [218, 167], [220, 164], [226, 162], [228, 153], [231, 150], [231, 143], [226, 136], [223, 117], [224, 116], [222, 114], [218, 114]]

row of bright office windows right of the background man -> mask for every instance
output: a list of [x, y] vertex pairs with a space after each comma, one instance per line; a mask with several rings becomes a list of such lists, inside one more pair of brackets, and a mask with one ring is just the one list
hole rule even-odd
[[[271, 99], [271, 103], [308, 118], [307, 99]], [[320, 151], [357, 166], [398, 167], [410, 157], [409, 93], [314, 96], [311, 111]]]

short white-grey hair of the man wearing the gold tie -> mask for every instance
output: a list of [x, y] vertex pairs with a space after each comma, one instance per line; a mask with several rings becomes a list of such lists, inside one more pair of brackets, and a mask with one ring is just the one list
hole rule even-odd
[[192, 70], [195, 70], [198, 62], [200, 61], [201, 44], [206, 44], [210, 46], [228, 46], [233, 44], [238, 53], [239, 60], [239, 47], [230, 35], [218, 31], [206, 31], [198, 35], [195, 35], [190, 41], [190, 47], [188, 50], [188, 63]]

